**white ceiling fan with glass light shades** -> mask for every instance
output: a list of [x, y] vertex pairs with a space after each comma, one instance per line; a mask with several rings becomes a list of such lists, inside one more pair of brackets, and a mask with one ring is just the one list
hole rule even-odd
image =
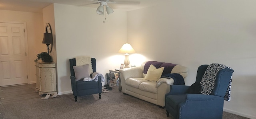
[[99, 15], [104, 15], [104, 11], [107, 12], [107, 14], [111, 14], [114, 12], [108, 4], [140, 4], [140, 1], [133, 1], [133, 0], [85, 0], [85, 1], [92, 1], [94, 3], [91, 4], [98, 4], [100, 3], [100, 6], [98, 6], [96, 12]]

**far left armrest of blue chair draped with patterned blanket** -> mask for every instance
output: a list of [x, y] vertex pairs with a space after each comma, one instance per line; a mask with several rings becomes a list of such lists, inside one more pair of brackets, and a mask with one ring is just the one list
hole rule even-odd
[[189, 87], [190, 86], [184, 85], [170, 85], [170, 92], [168, 92], [165, 96], [186, 94]]

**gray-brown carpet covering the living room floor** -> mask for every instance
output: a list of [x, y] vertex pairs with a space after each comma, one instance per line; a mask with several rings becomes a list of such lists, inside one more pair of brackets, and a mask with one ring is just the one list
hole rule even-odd
[[[165, 109], [157, 105], [124, 95], [117, 86], [102, 93], [101, 99], [98, 94], [78, 97], [78, 102], [72, 94], [54, 99], [41, 98], [0, 104], [0, 119], [174, 119], [171, 115], [166, 117]], [[224, 112], [223, 119], [247, 118]]]

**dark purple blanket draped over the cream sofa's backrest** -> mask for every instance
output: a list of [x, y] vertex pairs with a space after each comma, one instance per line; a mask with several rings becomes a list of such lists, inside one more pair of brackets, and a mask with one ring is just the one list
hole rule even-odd
[[143, 69], [144, 74], [147, 74], [148, 68], [151, 64], [153, 64], [156, 68], [164, 67], [164, 71], [163, 71], [162, 75], [170, 74], [172, 69], [174, 68], [174, 66], [177, 65], [177, 64], [164, 63], [164, 62], [158, 62], [158, 61], [148, 61], [148, 62], [146, 62], [144, 69]]

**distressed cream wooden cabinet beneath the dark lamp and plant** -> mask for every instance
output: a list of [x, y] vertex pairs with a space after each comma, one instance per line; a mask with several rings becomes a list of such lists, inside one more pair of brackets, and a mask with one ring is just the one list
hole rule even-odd
[[36, 92], [40, 96], [57, 93], [55, 63], [36, 62]]

